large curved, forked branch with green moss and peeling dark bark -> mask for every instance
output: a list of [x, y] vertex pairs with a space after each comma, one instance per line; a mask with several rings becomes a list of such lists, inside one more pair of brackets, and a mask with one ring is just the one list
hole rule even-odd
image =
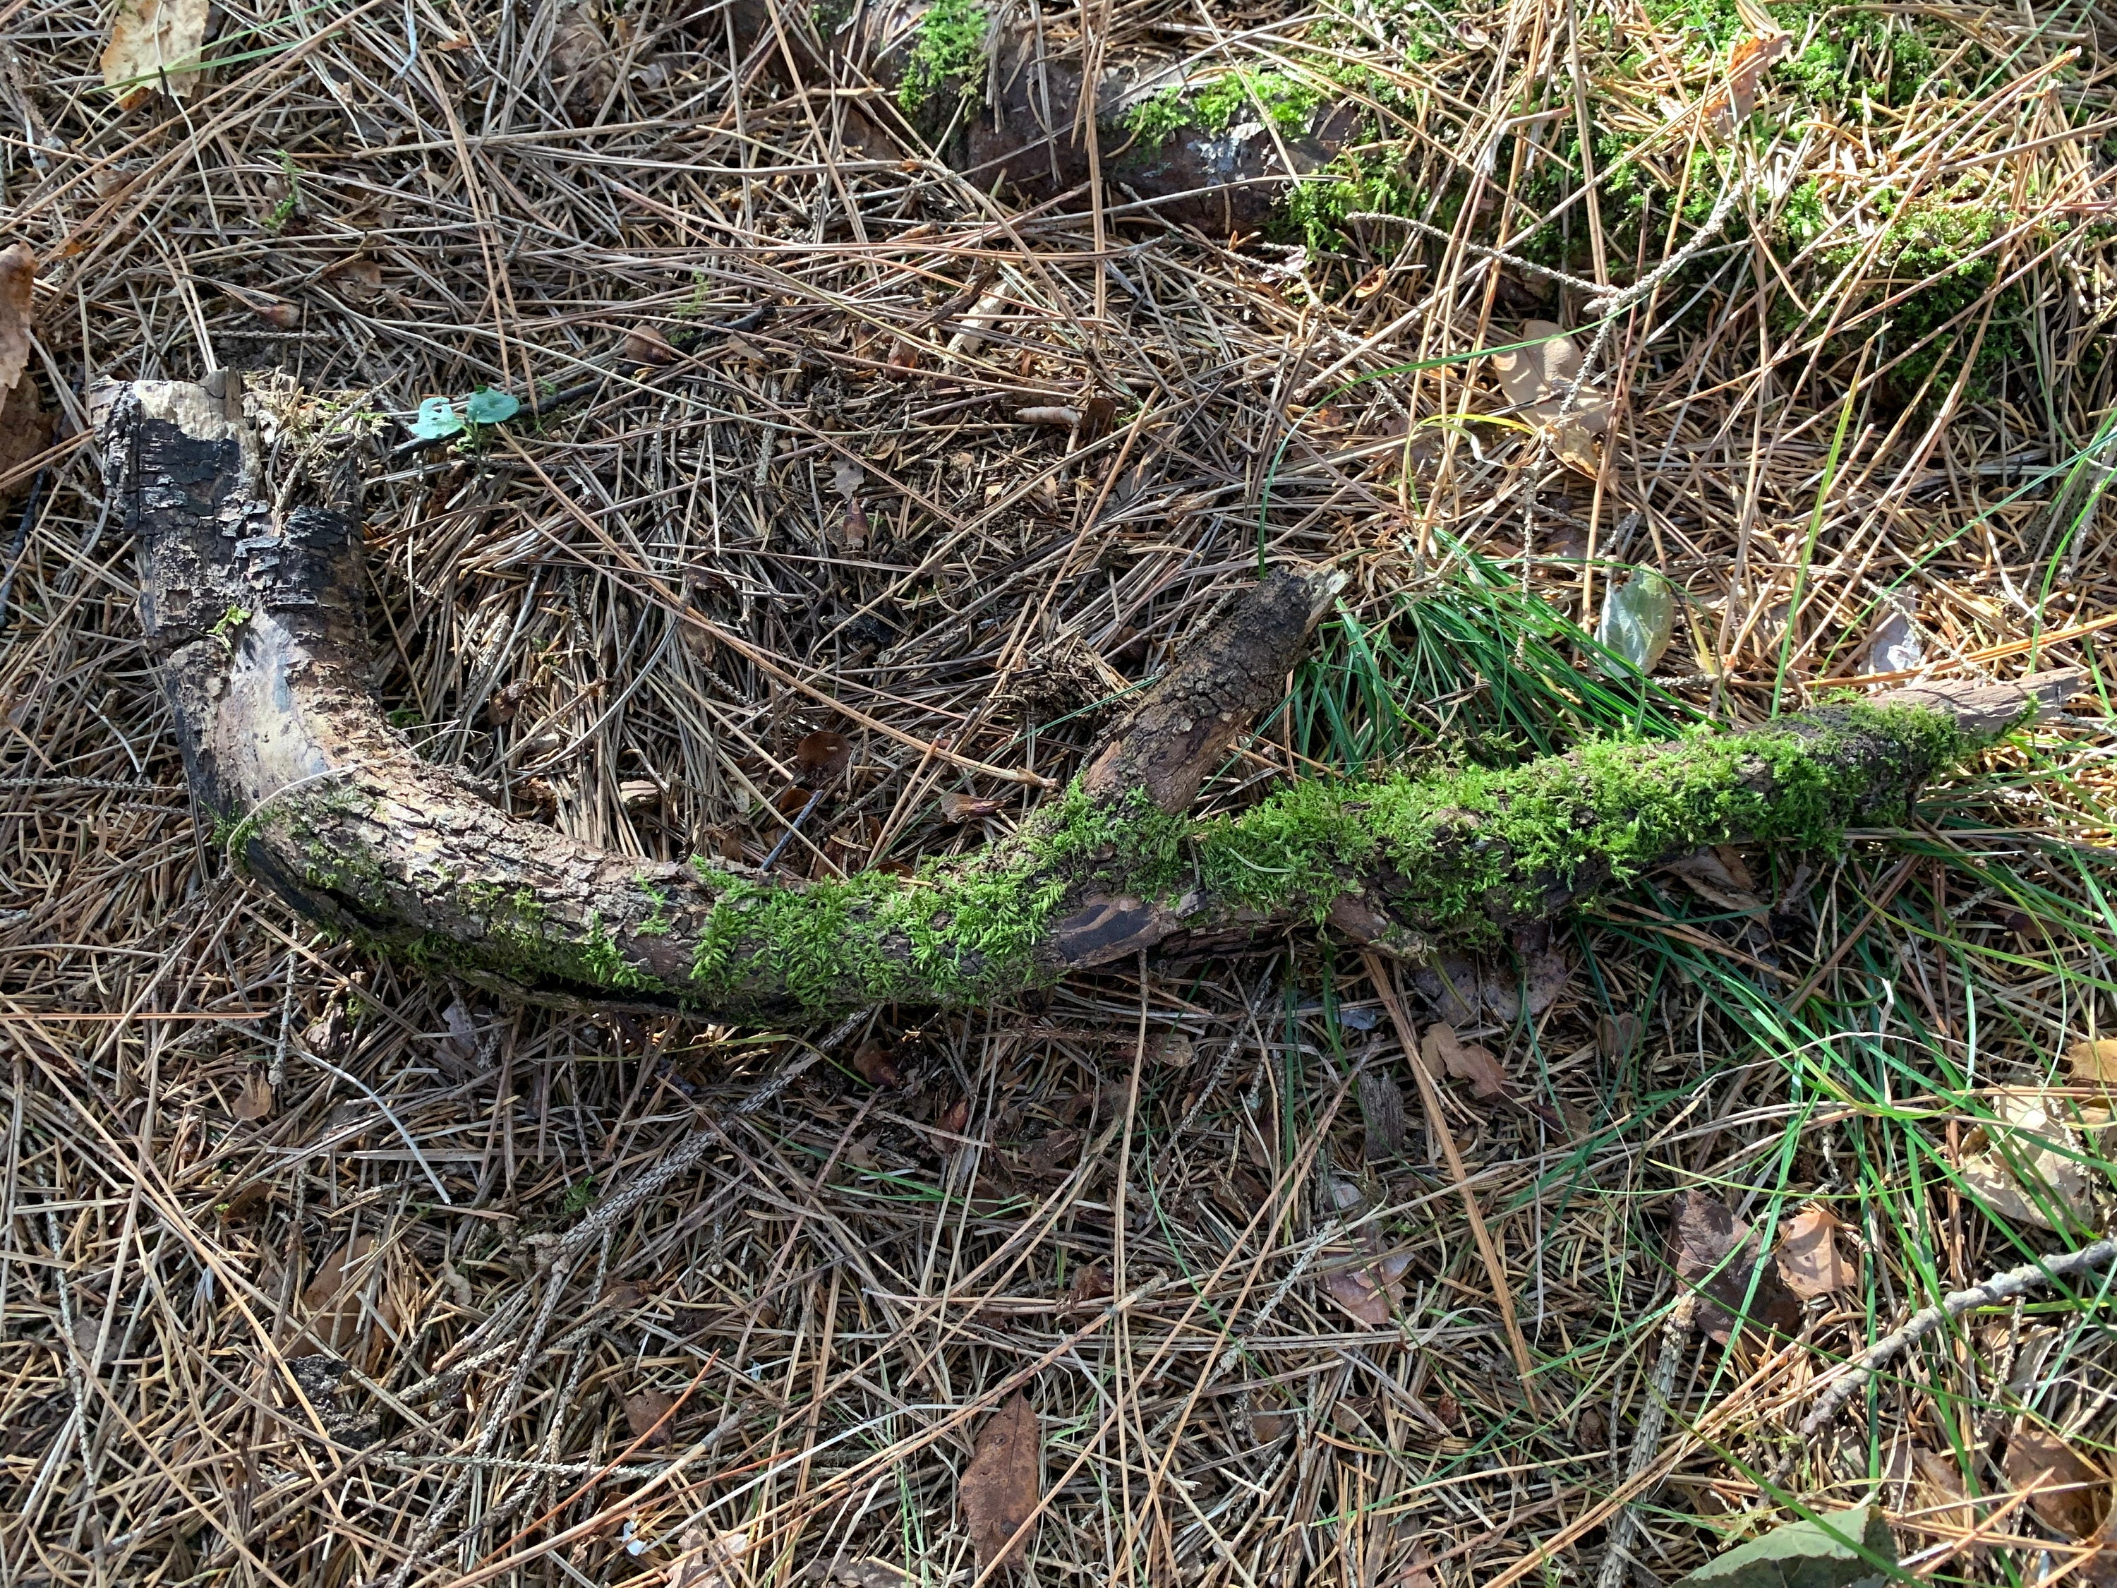
[[768, 1021], [997, 999], [1289, 925], [1412, 957], [1495, 942], [1698, 845], [1825, 847], [1903, 819], [1926, 777], [2077, 684], [1926, 686], [1509, 771], [1296, 781], [1192, 819], [1340, 584], [1283, 570], [1145, 690], [1063, 796], [980, 853], [843, 881], [639, 862], [502, 813], [385, 724], [356, 517], [275, 512], [235, 377], [108, 385], [95, 409], [216, 843], [315, 921], [553, 1001]]

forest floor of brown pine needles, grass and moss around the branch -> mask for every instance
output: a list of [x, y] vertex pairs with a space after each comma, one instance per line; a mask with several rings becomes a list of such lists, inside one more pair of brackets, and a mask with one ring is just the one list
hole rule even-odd
[[[1910, 1575], [2102, 1580], [2106, 1275], [1799, 1423], [2117, 1209], [2117, 19], [1029, 13], [1194, 55], [1228, 104], [1175, 114], [1351, 97], [1365, 138], [1230, 237], [972, 186], [857, 61], [792, 91], [709, 8], [233, 0], [207, 70], [114, 95], [110, 6], [0, 4], [61, 411], [0, 474], [38, 485], [0, 1584], [1615, 1588], [1861, 1499]], [[1533, 371], [1603, 315], [1552, 421]], [[817, 1029], [523, 1008], [332, 942], [193, 819], [85, 383], [216, 366], [286, 434], [375, 430], [392, 720], [648, 858], [760, 862], [819, 733], [851, 764], [783, 868], [982, 845], [1044, 794], [936, 752], [1065, 779], [1260, 559], [1351, 582], [1207, 809], [1916, 675], [2092, 688], [1914, 826], [1704, 851], [1520, 957], [1376, 982], [1296, 932]], [[402, 447], [481, 390], [531, 409]], [[1461, 1179], [1410, 1027], [1454, 1033]], [[1757, 1328], [1679, 1309], [1715, 1262]]]

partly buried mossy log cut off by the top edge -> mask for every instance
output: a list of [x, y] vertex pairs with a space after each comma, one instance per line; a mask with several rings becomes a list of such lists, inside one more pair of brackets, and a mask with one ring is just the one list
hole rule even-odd
[[796, 91], [855, 70], [879, 87], [951, 169], [980, 191], [1006, 184], [1044, 203], [1101, 176], [1114, 205], [1137, 203], [1213, 235], [1257, 233], [1298, 178], [1361, 140], [1357, 95], [1287, 72], [1241, 70], [1224, 51], [1109, 61], [1094, 80], [1094, 159], [1080, 40], [1058, 44], [976, 0], [881, 6], [735, 0], [739, 51], [764, 51]]

